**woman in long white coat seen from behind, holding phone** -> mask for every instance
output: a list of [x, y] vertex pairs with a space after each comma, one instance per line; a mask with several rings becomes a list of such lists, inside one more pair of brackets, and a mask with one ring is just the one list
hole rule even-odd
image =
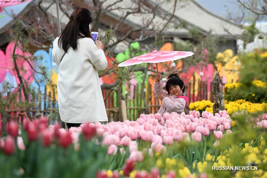
[[76, 8], [67, 26], [53, 42], [53, 58], [59, 66], [57, 81], [59, 114], [68, 127], [85, 122], [107, 122], [108, 117], [97, 70], [108, 63], [102, 42], [92, 40], [86, 8]]

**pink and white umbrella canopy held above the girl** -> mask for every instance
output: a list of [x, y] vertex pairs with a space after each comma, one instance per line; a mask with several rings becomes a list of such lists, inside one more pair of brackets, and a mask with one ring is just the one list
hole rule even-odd
[[188, 56], [192, 56], [194, 53], [189, 51], [157, 51], [155, 48], [153, 52], [146, 53], [127, 61], [120, 63], [119, 67], [125, 67], [135, 64], [146, 63], [159, 63], [159, 62], [167, 62], [167, 61], [175, 61], [177, 59], [185, 58]]

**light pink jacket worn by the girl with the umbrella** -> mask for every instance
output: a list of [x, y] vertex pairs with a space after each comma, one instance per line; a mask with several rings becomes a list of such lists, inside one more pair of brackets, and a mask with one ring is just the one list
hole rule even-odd
[[[162, 86], [162, 81], [160, 81], [160, 85]], [[160, 90], [158, 82], [154, 83], [154, 91], [157, 97], [159, 98]], [[185, 96], [176, 97], [175, 95], [170, 95], [167, 92], [165, 92], [162, 89], [162, 87], [161, 87], [161, 92], [165, 96], [165, 98], [163, 98], [162, 105], [159, 108], [157, 114], [161, 114], [161, 116], [163, 117], [164, 113], [176, 112], [180, 115], [182, 112], [184, 112], [186, 105], [189, 104], [189, 100], [187, 97]]]

